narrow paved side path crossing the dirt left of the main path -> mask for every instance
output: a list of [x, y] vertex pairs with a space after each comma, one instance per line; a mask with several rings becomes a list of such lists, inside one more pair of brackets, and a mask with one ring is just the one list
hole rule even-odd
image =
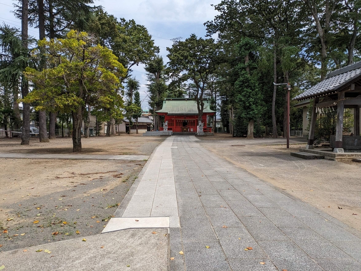
[[47, 153], [1, 153], [0, 158], [28, 159], [79, 159], [79, 160], [147, 160], [147, 155], [106, 155], [106, 154], [47, 154]]

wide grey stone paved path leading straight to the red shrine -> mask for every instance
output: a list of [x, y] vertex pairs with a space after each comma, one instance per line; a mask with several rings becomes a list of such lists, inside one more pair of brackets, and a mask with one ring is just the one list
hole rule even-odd
[[170, 217], [171, 271], [361, 270], [352, 228], [215, 156], [194, 136], [166, 139], [133, 189], [121, 216]]

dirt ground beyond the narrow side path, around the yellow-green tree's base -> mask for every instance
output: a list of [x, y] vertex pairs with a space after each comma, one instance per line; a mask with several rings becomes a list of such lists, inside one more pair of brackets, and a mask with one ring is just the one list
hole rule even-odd
[[[121, 134], [111, 137], [82, 137], [82, 154], [151, 155], [164, 137], [143, 137], [136, 134]], [[31, 137], [30, 145], [20, 145], [19, 137], [0, 138], [0, 152], [6, 153], [73, 153], [73, 141], [69, 137], [57, 137], [49, 143], [40, 143], [38, 137]]]

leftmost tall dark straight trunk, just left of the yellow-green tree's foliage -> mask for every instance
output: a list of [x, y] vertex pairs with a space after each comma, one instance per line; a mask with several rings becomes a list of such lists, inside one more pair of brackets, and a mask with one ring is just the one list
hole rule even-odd
[[[21, 40], [22, 45], [24, 47], [24, 52], [28, 56], [28, 0], [22, 0], [22, 8], [21, 8]], [[25, 98], [29, 93], [29, 86], [27, 79], [24, 75], [21, 77], [21, 96]], [[22, 120], [22, 133], [21, 133], [21, 145], [29, 145], [30, 144], [30, 104], [23, 103], [23, 120]]]

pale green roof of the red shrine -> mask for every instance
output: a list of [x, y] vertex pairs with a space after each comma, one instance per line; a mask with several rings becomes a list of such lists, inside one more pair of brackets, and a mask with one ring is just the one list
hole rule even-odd
[[[216, 113], [209, 109], [209, 101], [203, 100], [203, 113]], [[163, 107], [157, 113], [168, 113], [169, 115], [197, 115], [197, 102], [191, 98], [166, 98]]]

